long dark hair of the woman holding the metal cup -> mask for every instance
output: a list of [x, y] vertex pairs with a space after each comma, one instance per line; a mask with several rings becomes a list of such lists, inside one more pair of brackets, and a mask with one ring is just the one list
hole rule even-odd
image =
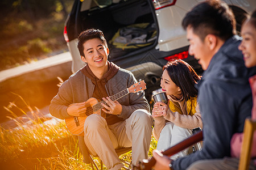
[[197, 96], [198, 91], [195, 84], [199, 82], [201, 76], [197, 75], [196, 71], [187, 62], [174, 59], [163, 66], [163, 70], [166, 70], [172, 82], [180, 87], [185, 101]]

